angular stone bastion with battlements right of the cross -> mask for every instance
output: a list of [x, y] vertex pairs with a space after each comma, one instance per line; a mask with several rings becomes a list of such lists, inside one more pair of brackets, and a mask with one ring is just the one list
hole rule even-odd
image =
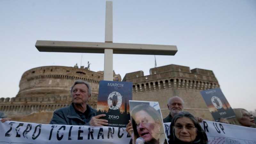
[[170, 113], [167, 108], [168, 99], [179, 96], [184, 101], [184, 110], [205, 120], [213, 120], [200, 91], [219, 87], [211, 70], [179, 65], [167, 65], [149, 70], [128, 73], [122, 81], [133, 83], [133, 100], [158, 101], [163, 118]]

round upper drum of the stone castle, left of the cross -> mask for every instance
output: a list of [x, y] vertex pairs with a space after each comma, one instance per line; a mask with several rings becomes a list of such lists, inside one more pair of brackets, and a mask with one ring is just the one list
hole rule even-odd
[[46, 66], [26, 71], [20, 80], [20, 91], [16, 97], [44, 97], [48, 95], [65, 96], [72, 84], [78, 80], [91, 84], [92, 93], [98, 94], [103, 73], [93, 72], [88, 68]]

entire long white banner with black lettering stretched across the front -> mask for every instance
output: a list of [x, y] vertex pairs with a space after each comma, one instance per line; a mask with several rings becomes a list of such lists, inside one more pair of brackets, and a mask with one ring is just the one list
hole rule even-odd
[[[167, 135], [170, 123], [164, 124]], [[256, 144], [256, 129], [212, 121], [201, 123], [209, 144]], [[129, 144], [125, 128], [0, 122], [0, 144]]]

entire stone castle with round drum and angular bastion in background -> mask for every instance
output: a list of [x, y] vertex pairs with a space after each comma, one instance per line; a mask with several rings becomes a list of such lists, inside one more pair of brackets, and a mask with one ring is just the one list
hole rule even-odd
[[[54, 110], [71, 104], [70, 87], [77, 79], [92, 86], [88, 104], [97, 107], [100, 80], [103, 71], [90, 68], [46, 66], [26, 71], [20, 80], [20, 91], [14, 98], [1, 98], [0, 111], [14, 121], [49, 124]], [[113, 72], [113, 81], [121, 76]], [[151, 68], [150, 75], [143, 71], [128, 73], [124, 82], [133, 83], [133, 100], [158, 101], [163, 117], [169, 113], [167, 101], [178, 95], [184, 101], [184, 109], [205, 120], [213, 120], [200, 91], [219, 87], [211, 70], [192, 69], [178, 65]]]

